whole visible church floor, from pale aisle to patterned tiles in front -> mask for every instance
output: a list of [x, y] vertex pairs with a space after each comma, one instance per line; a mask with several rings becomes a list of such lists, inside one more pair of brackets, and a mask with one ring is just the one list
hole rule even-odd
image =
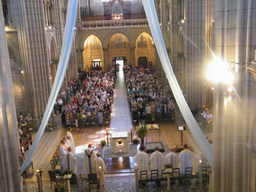
[[[135, 132], [135, 127], [137, 125], [132, 125], [132, 119], [129, 110], [129, 103], [127, 100], [126, 87], [124, 83], [124, 76], [121, 73], [116, 78], [115, 89], [114, 89], [114, 99], [112, 105], [112, 113], [109, 130], [110, 132], [125, 132], [129, 131], [132, 126], [133, 133]], [[178, 110], [176, 110], [178, 111]], [[160, 127], [160, 140], [166, 143], [166, 146], [170, 150], [170, 148], [176, 147], [176, 145], [181, 144], [180, 132], [178, 131], [178, 125], [180, 125], [180, 115], [176, 112], [176, 122], [175, 123], [159, 123]], [[52, 132], [44, 132], [44, 136], [39, 143], [39, 146], [32, 157], [34, 169], [30, 170], [27, 173], [28, 179], [23, 179], [23, 190], [24, 191], [35, 191], [37, 188], [36, 178], [34, 175], [36, 174], [36, 170], [41, 168], [44, 173], [42, 174], [43, 181], [43, 191], [53, 191], [50, 187], [48, 170], [52, 170], [50, 160], [52, 159], [53, 153], [59, 144], [60, 140], [66, 136], [67, 128], [63, 128], [60, 123], [60, 115], [57, 115], [58, 126], [53, 129]], [[84, 133], [78, 133], [75, 131], [75, 127], [73, 128], [73, 137], [76, 144], [76, 149], [83, 148], [88, 146], [89, 143], [92, 143], [93, 146], [98, 147], [100, 140], [106, 139], [106, 127], [86, 127]], [[206, 134], [206, 132], [205, 132]], [[210, 136], [210, 135], [209, 135]], [[158, 133], [153, 131], [153, 134], [149, 134], [147, 138], [148, 142], [158, 141]], [[193, 170], [196, 170], [196, 162], [194, 161], [194, 156], [196, 156], [200, 151], [196, 146], [193, 139], [189, 136], [188, 132], [184, 132], [183, 134], [183, 144], [187, 143], [188, 146], [191, 146], [194, 150], [192, 151], [192, 159], [193, 159]], [[108, 148], [105, 146], [105, 148]], [[110, 146], [109, 146], [110, 148]], [[105, 149], [106, 150], [106, 149]], [[78, 151], [76, 150], [76, 153]], [[83, 151], [82, 151], [83, 152]], [[26, 152], [25, 152], [26, 156]], [[105, 164], [107, 165], [107, 173], [105, 174], [106, 184], [104, 186], [105, 191], [135, 191], [135, 174], [134, 174], [134, 158], [129, 162], [126, 161], [127, 158], [123, 157], [115, 157], [113, 161], [111, 158], [104, 158]], [[109, 162], [111, 162], [109, 164]], [[179, 163], [180, 166], [180, 163]], [[79, 166], [78, 166], [79, 167]], [[130, 170], [127, 171], [127, 167]], [[110, 173], [111, 174], [108, 174]], [[81, 172], [82, 173], [82, 172]], [[24, 177], [25, 178], [25, 177]], [[79, 184], [79, 191], [89, 191], [88, 183], [86, 181], [85, 176], [82, 176], [84, 180], [84, 185], [82, 187], [81, 183]], [[64, 189], [66, 190], [66, 185], [64, 185]], [[140, 191], [161, 191], [166, 189], [167, 182], [161, 182], [161, 188], [158, 188], [155, 182], [150, 182], [146, 186], [141, 186]], [[191, 180], [191, 182], [183, 183], [182, 186], [178, 185], [178, 181], [174, 185], [171, 185], [172, 190], [174, 191], [194, 191], [198, 187], [198, 184], [195, 184], [195, 179]], [[204, 185], [204, 190], [207, 191], [207, 186]], [[210, 184], [211, 187], [211, 184]], [[76, 191], [76, 185], [71, 185], [71, 191]], [[91, 191], [97, 191], [96, 186], [91, 189]]]

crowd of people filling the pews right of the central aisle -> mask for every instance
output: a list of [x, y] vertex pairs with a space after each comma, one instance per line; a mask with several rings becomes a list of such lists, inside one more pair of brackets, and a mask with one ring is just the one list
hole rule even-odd
[[152, 70], [124, 67], [125, 83], [132, 117], [142, 122], [174, 120], [174, 97], [169, 85], [164, 87]]

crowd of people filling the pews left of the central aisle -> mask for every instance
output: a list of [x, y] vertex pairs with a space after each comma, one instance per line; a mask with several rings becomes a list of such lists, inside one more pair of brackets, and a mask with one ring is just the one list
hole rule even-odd
[[[105, 72], [92, 69], [80, 74], [78, 80], [68, 80], [67, 92], [61, 90], [54, 105], [54, 113], [61, 114], [62, 126], [76, 124], [77, 130], [87, 121], [96, 125], [103, 123], [104, 116], [110, 117], [115, 80], [112, 68]], [[81, 119], [82, 124], [79, 124]]]

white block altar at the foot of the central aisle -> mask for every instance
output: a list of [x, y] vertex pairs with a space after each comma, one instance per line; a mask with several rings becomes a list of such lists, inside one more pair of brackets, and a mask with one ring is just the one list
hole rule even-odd
[[[129, 151], [129, 139], [130, 136], [127, 132], [112, 132], [110, 138], [110, 146], [112, 153]], [[121, 140], [121, 144], [118, 144], [118, 140]]]

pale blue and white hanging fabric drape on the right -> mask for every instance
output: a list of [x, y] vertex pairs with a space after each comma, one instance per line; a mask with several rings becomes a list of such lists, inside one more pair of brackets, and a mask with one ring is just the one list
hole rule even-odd
[[175, 100], [180, 108], [181, 114], [184, 117], [190, 132], [193, 134], [197, 144], [204, 153], [204, 156], [207, 158], [208, 162], [212, 164], [212, 146], [206, 140], [204, 133], [201, 131], [200, 127], [196, 123], [195, 118], [193, 117], [188, 104], [180, 90], [180, 86], [177, 82], [177, 79], [172, 71], [171, 62], [166, 52], [164, 45], [164, 39], [159, 27], [156, 8], [153, 0], [142, 0], [146, 16], [148, 19], [148, 24], [156, 45], [156, 50], [161, 60], [162, 66], [164, 68], [165, 75], [168, 79], [168, 82], [171, 86]]

